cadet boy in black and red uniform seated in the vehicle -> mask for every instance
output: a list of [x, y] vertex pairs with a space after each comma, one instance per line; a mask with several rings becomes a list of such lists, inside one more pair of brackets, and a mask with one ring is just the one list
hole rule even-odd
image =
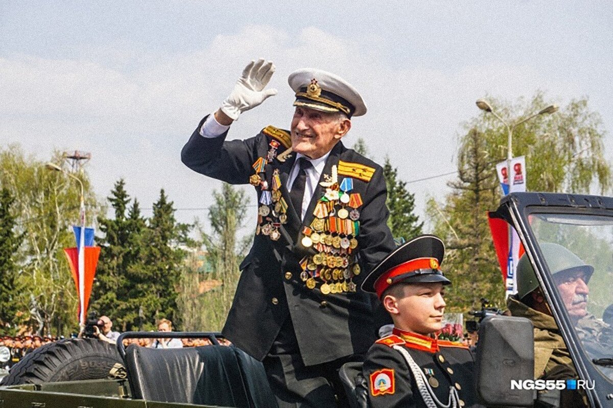
[[398, 247], [367, 276], [394, 320], [366, 355], [370, 407], [474, 407], [474, 360], [461, 343], [437, 340], [443, 327], [444, 244], [424, 235]]

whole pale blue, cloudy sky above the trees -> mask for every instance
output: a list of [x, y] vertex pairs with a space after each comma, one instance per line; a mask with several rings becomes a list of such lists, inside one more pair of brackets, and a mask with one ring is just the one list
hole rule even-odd
[[[123, 178], [143, 208], [164, 188], [177, 219], [207, 218], [221, 183], [189, 170], [180, 151], [243, 67], [276, 66], [275, 97], [244, 113], [229, 139], [288, 129], [287, 76], [329, 70], [364, 97], [343, 142], [364, 138], [416, 197], [443, 202], [462, 124], [484, 96], [537, 90], [560, 106], [588, 97], [613, 153], [613, 3], [607, 1], [12, 1], [0, 2], [0, 148], [41, 161], [54, 149], [91, 153], [99, 198]], [[512, 118], [511, 118], [512, 119]], [[530, 165], [529, 163], [527, 165]], [[248, 191], [255, 226], [253, 187]], [[143, 211], [150, 216], [151, 211]]]

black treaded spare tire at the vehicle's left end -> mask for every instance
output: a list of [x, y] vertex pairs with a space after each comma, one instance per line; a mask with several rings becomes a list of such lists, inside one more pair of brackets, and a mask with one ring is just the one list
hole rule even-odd
[[123, 364], [114, 344], [98, 339], [63, 339], [45, 344], [12, 366], [0, 385], [95, 380]]

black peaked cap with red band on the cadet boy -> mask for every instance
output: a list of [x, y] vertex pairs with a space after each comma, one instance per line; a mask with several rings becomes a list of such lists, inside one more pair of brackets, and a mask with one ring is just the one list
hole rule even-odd
[[378, 297], [399, 282], [441, 282], [451, 284], [440, 270], [445, 255], [443, 241], [434, 235], [421, 235], [402, 244], [387, 255], [362, 282], [364, 292]]

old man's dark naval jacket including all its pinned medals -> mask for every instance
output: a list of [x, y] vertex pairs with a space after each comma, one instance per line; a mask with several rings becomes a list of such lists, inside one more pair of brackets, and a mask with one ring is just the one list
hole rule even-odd
[[181, 160], [226, 183], [253, 184], [258, 202], [256, 236], [240, 265], [223, 334], [262, 360], [291, 316], [305, 365], [365, 353], [376, 339], [378, 300], [359, 287], [394, 249], [381, 166], [338, 142], [319, 180], [329, 183], [318, 185], [301, 222], [287, 190], [295, 161], [295, 153], [283, 153], [291, 146], [289, 132], [268, 126], [256, 137], [226, 142], [227, 132], [199, 134], [205, 119]]

